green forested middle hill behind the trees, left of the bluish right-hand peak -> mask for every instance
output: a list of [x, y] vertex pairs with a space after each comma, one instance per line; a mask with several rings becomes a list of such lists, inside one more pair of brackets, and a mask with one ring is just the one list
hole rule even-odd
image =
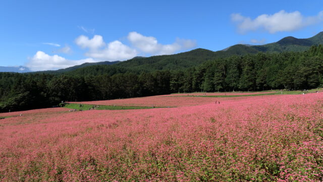
[[[213, 52], [206, 49], [195, 49], [192, 51], [179, 53], [175, 55], [162, 55], [162, 56], [151, 56], [151, 57], [135, 57], [133, 59], [122, 61], [111, 66], [91, 66], [83, 67], [73, 71], [73, 73], [87, 73], [91, 72], [90, 70], [97, 70], [103, 72], [107, 71], [110, 75], [111, 70], [116, 69], [130, 69], [133, 72], [141, 71], [154, 71], [154, 70], [180, 70], [193, 66], [200, 65], [205, 61], [214, 60], [217, 58], [227, 58], [233, 55], [243, 56], [246, 54], [255, 54], [259, 51], [246, 47], [242, 44], [233, 45], [227, 51], [217, 51]], [[119, 71], [116, 71], [119, 73]]]

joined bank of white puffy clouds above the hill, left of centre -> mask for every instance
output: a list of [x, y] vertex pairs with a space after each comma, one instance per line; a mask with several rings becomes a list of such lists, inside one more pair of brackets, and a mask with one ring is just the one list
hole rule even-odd
[[155, 37], [144, 36], [137, 32], [130, 32], [127, 38], [131, 47], [119, 40], [105, 43], [101, 35], [94, 35], [93, 38], [81, 35], [75, 39], [75, 43], [83, 49], [88, 48], [85, 56], [97, 61], [124, 61], [141, 53], [168, 55], [196, 47], [195, 40], [177, 38], [172, 44], [160, 44]]

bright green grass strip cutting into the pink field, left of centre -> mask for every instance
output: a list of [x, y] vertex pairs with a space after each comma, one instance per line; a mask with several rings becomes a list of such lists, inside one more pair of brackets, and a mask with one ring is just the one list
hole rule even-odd
[[[82, 107], [80, 107], [82, 106]], [[152, 109], [152, 108], [166, 108], [166, 107], [147, 107], [147, 106], [104, 106], [104, 105], [95, 105], [99, 107], [94, 107], [96, 110], [127, 110], [127, 109]], [[93, 109], [93, 105], [88, 104], [67, 104], [64, 106], [65, 108], [69, 109], [82, 109], [90, 110]]]

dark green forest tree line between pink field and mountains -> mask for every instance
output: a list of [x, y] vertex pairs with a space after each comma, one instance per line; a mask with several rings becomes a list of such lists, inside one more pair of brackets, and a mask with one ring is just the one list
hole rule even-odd
[[[93, 69], [95, 68], [95, 69]], [[214, 59], [180, 70], [0, 73], [0, 112], [170, 93], [309, 89], [323, 84], [323, 47], [302, 53], [258, 53]], [[110, 68], [105, 67], [106, 68]]]

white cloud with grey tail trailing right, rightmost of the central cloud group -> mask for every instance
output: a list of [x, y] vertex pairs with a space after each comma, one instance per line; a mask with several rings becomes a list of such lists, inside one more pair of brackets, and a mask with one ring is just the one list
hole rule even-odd
[[196, 41], [180, 38], [177, 38], [172, 44], [160, 44], [155, 37], [144, 36], [137, 32], [130, 32], [127, 38], [136, 49], [152, 55], [174, 54], [177, 51], [196, 46]]

